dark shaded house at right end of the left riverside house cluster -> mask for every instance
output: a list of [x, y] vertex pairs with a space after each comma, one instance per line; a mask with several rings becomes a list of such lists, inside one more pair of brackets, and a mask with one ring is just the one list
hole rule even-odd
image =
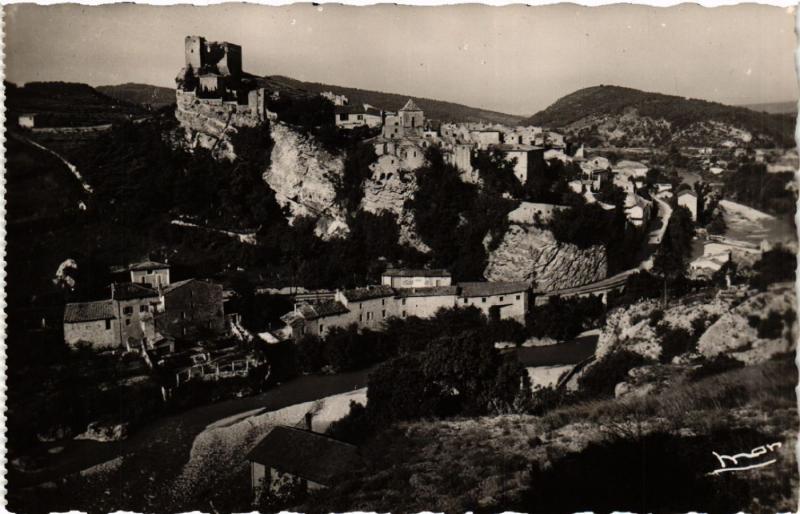
[[163, 287], [156, 324], [175, 338], [225, 334], [222, 285], [191, 278]]

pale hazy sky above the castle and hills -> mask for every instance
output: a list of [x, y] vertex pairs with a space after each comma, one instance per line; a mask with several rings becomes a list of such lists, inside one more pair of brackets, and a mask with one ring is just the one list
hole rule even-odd
[[6, 6], [13, 82], [174, 87], [183, 38], [242, 45], [251, 73], [532, 114], [616, 84], [730, 104], [795, 100], [794, 9]]

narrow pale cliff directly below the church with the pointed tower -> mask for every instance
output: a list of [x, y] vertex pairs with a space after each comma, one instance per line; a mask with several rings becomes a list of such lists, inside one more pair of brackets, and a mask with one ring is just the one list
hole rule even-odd
[[375, 214], [394, 214], [400, 228], [400, 244], [423, 253], [430, 252], [428, 245], [417, 235], [413, 214], [404, 208], [406, 200], [413, 198], [417, 191], [414, 172], [401, 169], [399, 159], [393, 155], [380, 156], [371, 168], [372, 176], [364, 182], [361, 208]]

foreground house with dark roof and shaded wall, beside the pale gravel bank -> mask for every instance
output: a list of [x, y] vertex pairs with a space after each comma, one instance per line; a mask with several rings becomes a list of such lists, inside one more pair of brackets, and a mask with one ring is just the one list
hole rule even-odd
[[323, 434], [276, 426], [247, 454], [255, 498], [330, 487], [361, 466], [358, 448]]

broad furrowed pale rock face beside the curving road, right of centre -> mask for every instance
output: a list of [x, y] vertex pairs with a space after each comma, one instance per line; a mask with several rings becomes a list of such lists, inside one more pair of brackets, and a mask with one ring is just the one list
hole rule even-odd
[[539, 291], [576, 287], [606, 278], [602, 246], [581, 250], [559, 243], [549, 230], [512, 224], [489, 255], [483, 275], [491, 281], [528, 282]]

